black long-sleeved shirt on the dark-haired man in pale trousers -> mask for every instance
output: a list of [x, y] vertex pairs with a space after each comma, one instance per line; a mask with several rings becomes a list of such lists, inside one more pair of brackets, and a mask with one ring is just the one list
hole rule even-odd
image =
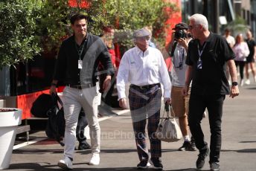
[[[62, 80], [71, 85], [96, 83], [99, 62], [106, 68], [107, 75], [113, 74], [109, 51], [100, 37], [87, 33], [82, 45], [83, 52], [79, 56], [81, 47], [75, 42], [74, 35], [63, 41], [57, 57], [54, 80]], [[79, 57], [83, 60], [83, 69], [78, 68]], [[80, 74], [83, 74], [83, 77], [80, 77]], [[83, 80], [80, 80], [81, 78]]]

